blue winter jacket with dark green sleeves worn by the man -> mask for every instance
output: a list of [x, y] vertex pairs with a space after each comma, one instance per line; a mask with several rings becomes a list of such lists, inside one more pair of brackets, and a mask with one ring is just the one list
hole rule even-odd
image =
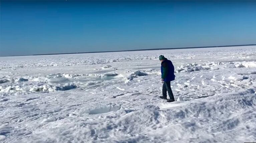
[[161, 63], [161, 73], [162, 73], [162, 79], [164, 79], [165, 82], [175, 80], [174, 66], [173, 66], [172, 61], [170, 61], [166, 58]]

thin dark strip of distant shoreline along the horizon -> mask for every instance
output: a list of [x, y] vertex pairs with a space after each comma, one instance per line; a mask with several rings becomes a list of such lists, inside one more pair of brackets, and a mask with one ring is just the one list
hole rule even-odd
[[[127, 52], [127, 51], [149, 51], [149, 50], [193, 49], [193, 48], [216, 48], [216, 47], [255, 46], [255, 45], [256, 45], [256, 44], [246, 44], [246, 45], [225, 45], [225, 46], [200, 46], [200, 47], [179, 47], [179, 48], [154, 48], [154, 49], [138, 49], [138, 50], [96, 51], [96, 52], [74, 52], [74, 53], [52, 53], [52, 54], [32, 54], [32, 55], [14, 55], [14, 56], [38, 56], [38, 55], [62, 55], [62, 54], [106, 53], [106, 52]], [[8, 57], [8, 56], [1, 56], [1, 57]]]

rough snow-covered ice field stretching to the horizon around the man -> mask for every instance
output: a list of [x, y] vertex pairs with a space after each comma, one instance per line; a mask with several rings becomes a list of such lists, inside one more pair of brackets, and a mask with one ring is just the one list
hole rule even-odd
[[[175, 66], [173, 103], [159, 98], [161, 54]], [[15, 56], [0, 64], [0, 142], [256, 141], [256, 46]]]

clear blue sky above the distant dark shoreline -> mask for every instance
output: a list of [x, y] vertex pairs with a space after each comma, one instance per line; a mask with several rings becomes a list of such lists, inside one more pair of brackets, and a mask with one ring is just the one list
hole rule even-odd
[[256, 43], [256, 1], [1, 1], [0, 56]]

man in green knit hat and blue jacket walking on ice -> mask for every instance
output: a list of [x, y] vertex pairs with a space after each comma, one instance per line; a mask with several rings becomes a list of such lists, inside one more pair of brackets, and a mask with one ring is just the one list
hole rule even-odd
[[159, 56], [161, 61], [161, 73], [162, 73], [162, 83], [163, 83], [163, 96], [160, 96], [162, 99], [167, 99], [167, 91], [170, 97], [170, 100], [167, 102], [174, 102], [174, 96], [171, 89], [171, 81], [175, 79], [174, 75], [174, 66], [172, 61], [165, 58], [163, 55]]

